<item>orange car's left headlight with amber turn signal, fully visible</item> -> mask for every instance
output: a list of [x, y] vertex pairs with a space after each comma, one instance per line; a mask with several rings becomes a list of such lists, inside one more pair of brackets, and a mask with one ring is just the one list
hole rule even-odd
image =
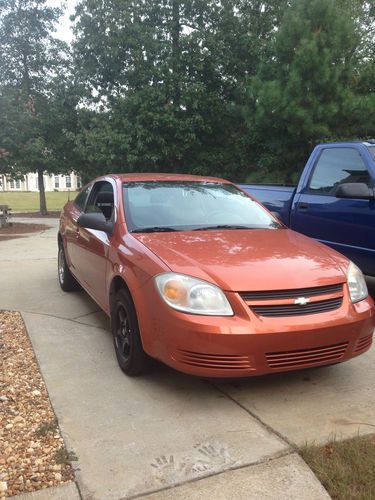
[[207, 281], [185, 274], [155, 276], [161, 298], [178, 311], [207, 316], [233, 316], [223, 291]]

